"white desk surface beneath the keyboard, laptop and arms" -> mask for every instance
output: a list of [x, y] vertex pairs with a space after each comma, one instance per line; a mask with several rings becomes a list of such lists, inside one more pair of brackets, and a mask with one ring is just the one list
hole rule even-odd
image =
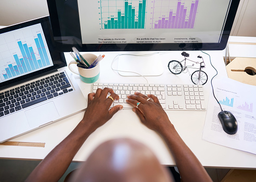
[[[206, 98], [209, 96], [209, 104], [214, 102], [210, 87], [210, 79], [215, 75], [214, 69], [210, 65], [209, 57], [198, 51], [187, 51], [190, 58], [196, 59], [200, 54], [206, 62], [204, 71], [208, 74], [208, 82], [204, 85]], [[100, 78], [97, 82], [121, 82], [121, 83], [146, 83], [143, 77], [123, 77], [117, 72], [112, 71], [110, 65], [113, 58], [119, 52], [101, 52], [106, 57], [100, 63]], [[213, 65], [218, 70], [217, 78], [227, 77], [225, 64], [221, 51], [207, 51], [211, 55]], [[99, 52], [95, 52], [96, 55]], [[65, 54], [67, 62], [72, 58], [68, 53]], [[182, 60], [181, 51], [172, 51], [160, 54], [164, 73], [161, 76], [147, 77], [149, 83], [184, 83], [191, 84], [188, 73], [173, 75], [168, 70], [170, 60]], [[118, 61], [117, 61], [118, 62]], [[117, 63], [116, 62], [116, 63]], [[67, 69], [67, 68], [66, 68]], [[84, 83], [78, 75], [74, 78], [81, 91], [87, 99], [87, 94], [91, 92], [92, 84]], [[84, 113], [73, 115], [56, 123], [50, 124], [44, 128], [22, 135], [11, 141], [19, 142], [39, 142], [45, 143], [45, 147], [22, 147], [22, 146], [0, 146], [0, 158], [14, 159], [43, 159], [62, 139], [64, 139], [79, 123]], [[256, 156], [251, 153], [235, 150], [232, 148], [216, 145], [202, 140], [202, 130], [206, 111], [167, 111], [167, 114], [174, 124], [177, 132], [181, 135], [184, 142], [195, 153], [203, 166], [207, 167], [227, 167], [227, 168], [255, 168]], [[100, 143], [112, 138], [129, 137], [144, 143], [156, 153], [156, 156], [164, 165], [175, 165], [170, 151], [165, 145], [163, 139], [154, 131], [146, 128], [140, 123], [138, 117], [132, 110], [120, 110], [105, 125], [98, 128], [85, 141], [79, 152], [75, 155], [73, 161], [85, 161], [88, 155]]]

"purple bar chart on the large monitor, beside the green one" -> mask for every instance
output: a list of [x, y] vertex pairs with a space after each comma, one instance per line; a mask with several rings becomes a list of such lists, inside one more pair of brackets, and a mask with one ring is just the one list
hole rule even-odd
[[154, 0], [152, 29], [194, 29], [198, 6], [199, 0]]

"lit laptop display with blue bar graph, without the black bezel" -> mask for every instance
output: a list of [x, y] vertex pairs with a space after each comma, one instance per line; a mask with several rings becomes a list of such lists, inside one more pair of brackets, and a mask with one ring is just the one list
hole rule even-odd
[[0, 34], [0, 82], [53, 66], [41, 24]]

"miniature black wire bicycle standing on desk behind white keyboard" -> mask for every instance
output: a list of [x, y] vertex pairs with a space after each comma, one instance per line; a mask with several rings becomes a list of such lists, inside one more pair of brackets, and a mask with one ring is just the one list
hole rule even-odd
[[[188, 73], [189, 73], [188, 68], [198, 69], [198, 68], [193, 67], [194, 64], [192, 64], [191, 66], [187, 66], [186, 65], [186, 60], [188, 60], [188, 61], [194, 62], [196, 64], [200, 64], [199, 70], [197, 70], [197, 71], [195, 71], [191, 74], [191, 81], [196, 85], [206, 84], [206, 82], [208, 80], [208, 76], [207, 76], [206, 72], [203, 72], [201, 70], [202, 68], [206, 67], [206, 64], [204, 63], [203, 58], [200, 55], [198, 55], [197, 58], [202, 59], [202, 62], [196, 62], [196, 61], [192, 61], [192, 60], [187, 59], [189, 57], [188, 53], [182, 52], [181, 54], [185, 57], [184, 60], [182, 60], [181, 62], [178, 62], [176, 60], [172, 60], [168, 63], [168, 68], [169, 68], [170, 72], [175, 74], [175, 75], [178, 75], [178, 74], [184, 72], [185, 70], [188, 71]], [[184, 62], [184, 65], [181, 64], [182, 62]]]

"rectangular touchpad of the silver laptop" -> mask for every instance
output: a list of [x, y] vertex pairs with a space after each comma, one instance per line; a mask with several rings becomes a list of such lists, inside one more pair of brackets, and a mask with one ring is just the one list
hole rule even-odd
[[39, 127], [42, 124], [55, 121], [59, 118], [54, 102], [48, 102], [41, 106], [26, 110], [25, 115], [27, 116], [31, 128]]

